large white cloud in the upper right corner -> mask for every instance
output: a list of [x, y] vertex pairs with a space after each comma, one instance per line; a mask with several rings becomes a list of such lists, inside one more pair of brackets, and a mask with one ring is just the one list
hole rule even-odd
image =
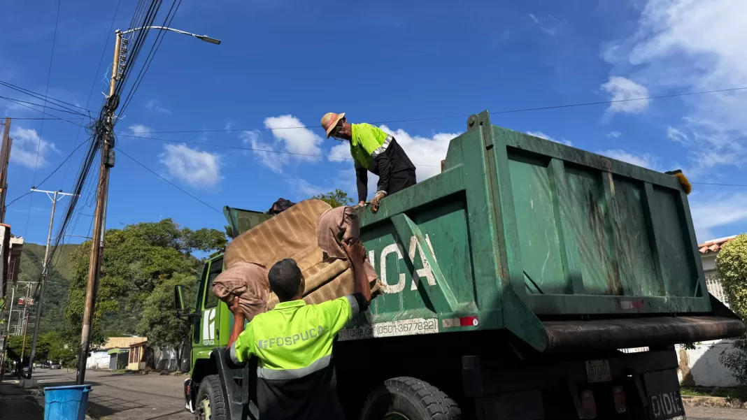
[[[747, 1], [742, 0], [648, 0], [630, 36], [608, 43], [601, 55], [617, 72], [646, 81], [657, 93], [743, 87], [746, 15]], [[747, 92], [681, 101], [686, 118], [668, 136], [687, 145], [697, 169], [747, 163]]]

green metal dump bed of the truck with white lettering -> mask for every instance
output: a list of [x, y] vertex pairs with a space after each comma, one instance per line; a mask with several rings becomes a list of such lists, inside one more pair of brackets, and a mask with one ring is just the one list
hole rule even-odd
[[[546, 351], [558, 322], [644, 316], [669, 325], [668, 343], [744, 331], [713, 314], [676, 178], [491, 125], [487, 112], [450, 142], [441, 174], [360, 212], [386, 288], [343, 340], [506, 329]], [[681, 314], [690, 322], [664, 319]]]

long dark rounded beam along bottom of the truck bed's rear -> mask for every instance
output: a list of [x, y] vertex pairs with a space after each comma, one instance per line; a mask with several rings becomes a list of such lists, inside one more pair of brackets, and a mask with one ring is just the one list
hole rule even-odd
[[545, 353], [657, 347], [740, 336], [740, 319], [723, 316], [655, 316], [589, 321], [545, 321]]

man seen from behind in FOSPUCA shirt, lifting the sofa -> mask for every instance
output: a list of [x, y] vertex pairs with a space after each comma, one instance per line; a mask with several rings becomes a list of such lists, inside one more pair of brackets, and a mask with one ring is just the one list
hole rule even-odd
[[286, 259], [268, 273], [279, 299], [244, 329], [238, 298], [231, 307], [231, 362], [242, 366], [258, 357], [257, 405], [262, 420], [344, 419], [338, 400], [332, 342], [351, 319], [368, 309], [371, 286], [363, 271], [366, 250], [359, 239], [342, 243], [355, 278], [355, 292], [333, 301], [307, 305], [304, 280], [296, 262]]

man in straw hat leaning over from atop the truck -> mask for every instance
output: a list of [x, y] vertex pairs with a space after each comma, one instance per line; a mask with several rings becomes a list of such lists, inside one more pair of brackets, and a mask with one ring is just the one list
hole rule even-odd
[[359, 205], [368, 197], [368, 172], [379, 176], [376, 193], [371, 200], [371, 210], [379, 210], [379, 201], [415, 185], [415, 165], [390, 134], [371, 124], [350, 124], [345, 113], [326, 113], [322, 128], [327, 138], [335, 137], [350, 142], [350, 154], [356, 163], [356, 184]]

